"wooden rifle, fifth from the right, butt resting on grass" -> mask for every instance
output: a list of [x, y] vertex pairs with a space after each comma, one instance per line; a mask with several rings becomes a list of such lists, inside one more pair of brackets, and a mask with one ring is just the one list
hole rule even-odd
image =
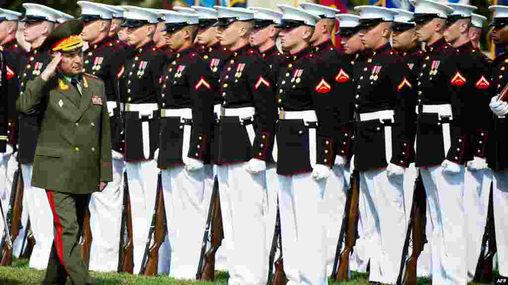
[[[208, 217], [206, 220], [206, 229], [203, 235], [203, 245], [198, 264], [197, 280], [213, 281], [215, 279], [215, 254], [224, 238], [224, 229], [222, 223], [222, 213], [220, 211], [219, 183], [217, 177], [213, 181], [213, 191], [208, 207]], [[213, 218], [212, 218], [213, 216]], [[210, 231], [210, 248], [206, 252], [208, 243], [208, 232]]]

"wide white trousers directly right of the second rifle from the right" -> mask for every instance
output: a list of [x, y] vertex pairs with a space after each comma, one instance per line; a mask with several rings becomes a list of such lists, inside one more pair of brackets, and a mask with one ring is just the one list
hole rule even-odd
[[449, 173], [441, 166], [420, 167], [432, 223], [433, 284], [467, 283], [464, 168], [461, 165], [459, 173]]

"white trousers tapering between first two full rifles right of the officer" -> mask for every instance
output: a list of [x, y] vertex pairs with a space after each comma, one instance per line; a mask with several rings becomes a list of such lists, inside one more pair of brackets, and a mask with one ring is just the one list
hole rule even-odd
[[138, 274], [145, 253], [148, 232], [152, 222], [157, 190], [157, 162], [127, 162], [127, 180], [131, 198], [134, 273]]

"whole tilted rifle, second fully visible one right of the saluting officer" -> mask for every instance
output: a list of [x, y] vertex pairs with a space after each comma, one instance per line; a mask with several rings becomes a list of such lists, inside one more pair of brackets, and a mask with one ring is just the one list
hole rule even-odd
[[[158, 250], [166, 237], [166, 209], [164, 208], [164, 196], [162, 193], [162, 172], [158, 173], [157, 194], [155, 197], [155, 211], [152, 217], [148, 240], [146, 241], [145, 254], [141, 262], [139, 274], [155, 276], [158, 271]], [[153, 237], [153, 244], [150, 246]]]

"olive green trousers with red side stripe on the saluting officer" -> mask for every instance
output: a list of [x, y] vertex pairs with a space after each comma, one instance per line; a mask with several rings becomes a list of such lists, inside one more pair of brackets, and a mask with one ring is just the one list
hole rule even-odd
[[79, 239], [90, 194], [70, 194], [46, 190], [53, 212], [55, 238], [44, 277], [44, 284], [63, 285], [70, 278], [74, 285], [91, 284], [88, 268], [79, 252]]

